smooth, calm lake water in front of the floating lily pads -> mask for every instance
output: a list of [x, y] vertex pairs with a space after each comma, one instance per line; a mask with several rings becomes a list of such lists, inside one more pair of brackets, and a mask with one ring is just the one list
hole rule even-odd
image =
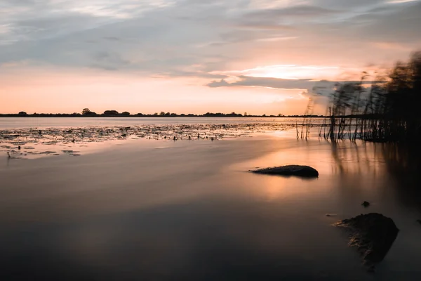
[[[0, 277], [417, 280], [420, 181], [412, 172], [417, 156], [405, 151], [302, 141], [292, 130], [220, 141], [110, 142], [80, 157], [5, 157]], [[283, 164], [308, 164], [320, 176], [248, 172]], [[331, 226], [368, 212], [393, 218], [401, 230], [374, 275]]]

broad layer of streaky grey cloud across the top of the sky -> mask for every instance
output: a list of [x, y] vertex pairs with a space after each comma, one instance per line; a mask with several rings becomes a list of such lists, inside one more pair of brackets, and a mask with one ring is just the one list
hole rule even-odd
[[223, 77], [236, 65], [381, 63], [420, 46], [420, 13], [420, 1], [3, 0], [0, 64]]

